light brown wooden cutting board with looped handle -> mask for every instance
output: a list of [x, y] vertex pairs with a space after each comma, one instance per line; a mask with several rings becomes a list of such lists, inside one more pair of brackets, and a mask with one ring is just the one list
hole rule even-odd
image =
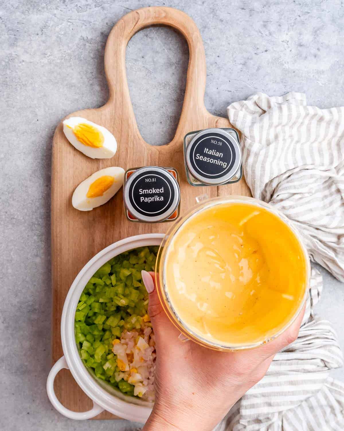
[[[136, 124], [126, 79], [126, 45], [141, 28], [168, 25], [187, 40], [189, 65], [185, 97], [175, 137], [164, 146], [143, 140]], [[108, 203], [89, 212], [73, 208], [71, 197], [77, 185], [98, 169], [121, 166], [174, 166], [181, 180], [181, 213], [195, 205], [195, 197], [226, 194], [250, 195], [244, 180], [221, 187], [192, 187], [186, 181], [183, 159], [184, 135], [209, 127], [231, 127], [228, 119], [210, 114], [204, 106], [206, 58], [200, 32], [184, 12], [168, 7], [147, 7], [124, 16], [111, 30], [105, 48], [105, 73], [110, 89], [108, 102], [99, 109], [85, 109], [70, 116], [84, 117], [109, 129], [117, 139], [112, 159], [90, 159], [68, 143], [62, 123], [56, 128], [52, 150], [52, 361], [62, 355], [60, 323], [64, 299], [75, 276], [96, 253], [117, 240], [149, 232], [166, 232], [168, 223], [145, 224], [127, 221], [122, 191]], [[71, 374], [62, 370], [55, 379], [55, 393], [61, 403], [74, 411], [86, 411], [92, 403]], [[103, 412], [97, 419], [114, 419]]]

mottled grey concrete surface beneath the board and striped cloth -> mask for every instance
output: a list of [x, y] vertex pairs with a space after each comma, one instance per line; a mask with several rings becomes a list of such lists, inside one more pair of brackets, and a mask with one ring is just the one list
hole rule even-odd
[[[233, 0], [169, 3], [200, 28], [210, 112], [256, 91], [304, 91], [319, 107], [344, 104], [341, 1]], [[111, 27], [138, 0], [0, 2], [1, 275], [0, 429], [132, 431], [119, 422], [73, 422], [46, 397], [50, 368], [50, 159], [53, 131], [77, 109], [101, 106]], [[139, 128], [151, 144], [172, 138], [181, 111], [187, 46], [166, 28], [136, 34], [126, 52]], [[318, 312], [344, 347], [344, 286], [324, 275]], [[344, 380], [343, 370], [333, 372]]]

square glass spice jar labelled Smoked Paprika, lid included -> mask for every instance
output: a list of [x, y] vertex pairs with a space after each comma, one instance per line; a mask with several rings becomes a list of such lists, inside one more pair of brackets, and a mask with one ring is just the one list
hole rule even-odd
[[180, 187], [174, 168], [145, 166], [124, 174], [123, 202], [131, 222], [172, 222], [179, 216]]

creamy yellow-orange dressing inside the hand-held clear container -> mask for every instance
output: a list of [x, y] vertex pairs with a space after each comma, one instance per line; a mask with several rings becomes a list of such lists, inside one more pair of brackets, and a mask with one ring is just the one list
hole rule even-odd
[[266, 209], [243, 203], [204, 209], [166, 247], [172, 307], [184, 325], [213, 343], [267, 340], [301, 305], [304, 253], [291, 229]]

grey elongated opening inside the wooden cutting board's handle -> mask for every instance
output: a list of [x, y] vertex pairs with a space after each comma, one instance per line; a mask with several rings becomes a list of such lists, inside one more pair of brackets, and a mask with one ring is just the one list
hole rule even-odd
[[[142, 47], [148, 49], [142, 51]], [[189, 50], [185, 38], [166, 26], [139, 31], [126, 49], [126, 74], [135, 118], [151, 145], [172, 141], [183, 106]], [[133, 91], [132, 82], [141, 82]], [[154, 95], [154, 96], [153, 96]], [[154, 100], [154, 103], [153, 103]]]

